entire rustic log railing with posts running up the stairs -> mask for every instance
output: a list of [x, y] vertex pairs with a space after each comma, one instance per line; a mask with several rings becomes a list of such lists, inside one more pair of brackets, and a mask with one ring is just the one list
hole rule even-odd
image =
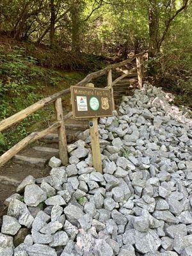
[[[143, 61], [142, 60], [143, 60], [144, 53], [145, 52], [141, 52], [140, 54], [136, 54], [136, 55], [132, 56], [132, 58], [129, 58], [129, 59], [124, 60], [119, 63], [109, 65], [108, 67], [106, 67], [102, 70], [88, 74], [88, 76], [84, 77], [84, 79], [82, 81], [80, 81], [79, 83], [77, 83], [75, 85], [76, 86], [85, 86], [86, 84], [90, 83], [90, 81], [92, 81], [93, 79], [107, 74], [108, 75], [108, 86], [106, 86], [106, 88], [111, 88], [111, 93], [113, 96], [113, 86], [116, 83], [118, 83], [118, 81], [120, 81], [122, 78], [129, 76], [129, 74], [131, 74], [132, 72], [137, 70], [138, 83], [139, 83], [139, 87], [141, 88], [142, 87], [142, 77], [143, 77], [143, 71], [142, 71], [143, 70]], [[131, 70], [126, 72], [126, 74], [123, 74], [122, 76], [115, 79], [115, 81], [112, 80], [112, 70], [114, 70], [115, 68], [124, 67], [125, 65], [127, 65], [128, 63], [131, 63], [135, 59], [136, 59], [137, 67], [132, 68]], [[31, 134], [29, 134], [29, 136], [27, 136], [23, 140], [19, 141], [19, 143], [17, 143], [15, 146], [10, 148], [10, 150], [8, 150], [2, 156], [0, 156], [0, 167], [3, 166], [3, 164], [5, 164], [7, 161], [9, 161], [13, 156], [15, 156], [20, 150], [22, 150], [22, 148], [29, 145], [29, 143], [39, 140], [40, 138], [43, 138], [45, 135], [51, 133], [55, 129], [58, 129], [60, 159], [61, 159], [63, 165], [68, 163], [67, 138], [66, 138], [66, 134], [65, 134], [65, 119], [72, 116], [72, 113], [70, 112], [66, 116], [63, 116], [63, 107], [62, 107], [62, 103], [61, 103], [61, 97], [64, 95], [67, 95], [68, 93], [70, 93], [70, 88], [63, 90], [61, 92], [58, 92], [58, 93], [54, 93], [53, 95], [46, 97], [42, 100], [39, 100], [38, 102], [29, 106], [28, 108], [23, 109], [22, 111], [16, 113], [15, 115], [12, 115], [0, 122], [0, 132], [1, 132], [1, 131], [4, 131], [5, 129], [8, 129], [13, 124], [16, 124], [16, 123], [24, 120], [24, 118], [27, 118], [32, 113], [34, 113], [35, 111], [37, 111], [39, 109], [44, 108], [48, 104], [54, 103], [54, 107], [56, 110], [57, 122], [52, 124], [50, 127], [45, 129], [44, 131], [32, 132]], [[113, 99], [113, 97], [112, 97], [112, 99]], [[113, 99], [113, 109], [115, 109], [114, 99]]]

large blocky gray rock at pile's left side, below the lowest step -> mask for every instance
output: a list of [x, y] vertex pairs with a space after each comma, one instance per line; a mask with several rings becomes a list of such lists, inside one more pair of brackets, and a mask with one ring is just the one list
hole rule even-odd
[[24, 202], [29, 206], [37, 206], [47, 199], [47, 194], [39, 186], [32, 184], [25, 188]]

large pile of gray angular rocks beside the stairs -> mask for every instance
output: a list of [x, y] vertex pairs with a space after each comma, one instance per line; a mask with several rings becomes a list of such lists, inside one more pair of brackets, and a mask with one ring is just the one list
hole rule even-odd
[[100, 118], [103, 174], [87, 130], [67, 166], [52, 157], [48, 177], [26, 177], [5, 201], [0, 255], [192, 255], [192, 123], [171, 101], [145, 84]]

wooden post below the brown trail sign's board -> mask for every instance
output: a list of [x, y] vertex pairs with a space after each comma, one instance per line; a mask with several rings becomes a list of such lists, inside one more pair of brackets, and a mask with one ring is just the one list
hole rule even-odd
[[98, 131], [98, 118], [92, 118], [93, 127], [90, 127], [90, 137], [92, 141], [92, 156], [93, 167], [98, 172], [102, 173], [102, 161], [100, 155], [99, 131]]

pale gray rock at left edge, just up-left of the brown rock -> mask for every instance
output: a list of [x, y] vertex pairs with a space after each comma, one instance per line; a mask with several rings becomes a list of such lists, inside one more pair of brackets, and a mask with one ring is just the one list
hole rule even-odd
[[21, 225], [19, 221], [11, 216], [3, 216], [3, 225], [1, 227], [1, 232], [6, 235], [15, 236], [19, 231]]

